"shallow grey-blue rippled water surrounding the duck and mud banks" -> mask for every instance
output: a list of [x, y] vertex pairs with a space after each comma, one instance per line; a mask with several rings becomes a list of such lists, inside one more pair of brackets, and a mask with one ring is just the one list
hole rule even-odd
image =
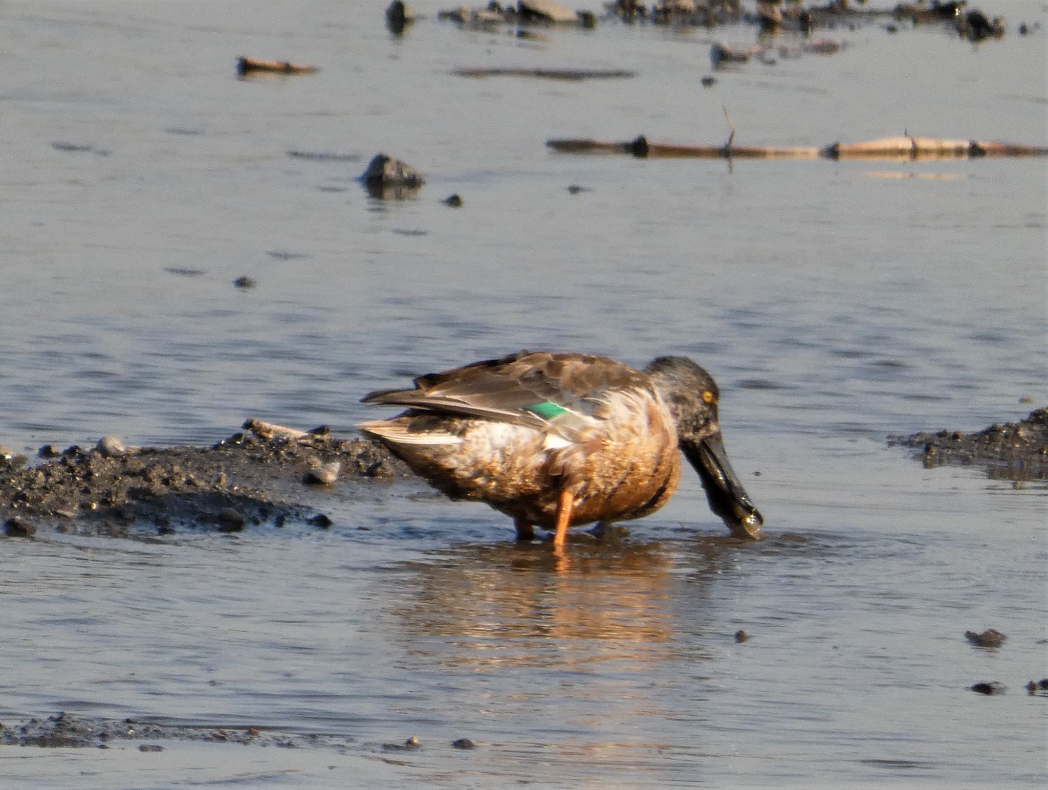
[[[985, 10], [1008, 18], [1003, 41], [842, 28], [837, 56], [704, 89], [709, 43], [752, 28], [536, 43], [431, 18], [398, 39], [378, 6], [335, 2], [5, 4], [0, 441], [205, 443], [247, 416], [348, 432], [371, 389], [521, 347], [686, 353], [721, 386], [770, 540], [722, 539], [685, 480], [628, 537], [580, 536], [566, 566], [411, 483], [344, 484], [323, 533], [4, 541], [5, 724], [68, 709], [358, 748], [4, 749], [0, 777], [1040, 786], [1046, 705], [1022, 686], [1048, 674], [1045, 488], [925, 470], [885, 437], [1044, 404], [1044, 162], [543, 145], [722, 142], [722, 105], [740, 145], [1043, 145], [1045, 30], [1014, 27], [1048, 13]], [[241, 82], [239, 54], [323, 70]], [[449, 74], [466, 66], [638, 75]], [[380, 150], [425, 174], [415, 198], [353, 180]], [[964, 641], [988, 627], [1001, 649]], [[982, 680], [1008, 693], [966, 690]], [[380, 748], [412, 734], [421, 750]]]

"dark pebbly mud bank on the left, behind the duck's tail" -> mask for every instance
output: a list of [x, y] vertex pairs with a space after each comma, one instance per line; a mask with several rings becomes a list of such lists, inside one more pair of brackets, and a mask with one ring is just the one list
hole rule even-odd
[[237, 531], [288, 520], [327, 526], [324, 513], [308, 504], [311, 470], [337, 463], [342, 479], [409, 474], [370, 441], [335, 438], [326, 429], [292, 436], [271, 427], [248, 420], [244, 433], [211, 447], [114, 454], [103, 441], [91, 449], [71, 446], [39, 465], [0, 462], [3, 534], [31, 536], [43, 528], [115, 536], [180, 527]]

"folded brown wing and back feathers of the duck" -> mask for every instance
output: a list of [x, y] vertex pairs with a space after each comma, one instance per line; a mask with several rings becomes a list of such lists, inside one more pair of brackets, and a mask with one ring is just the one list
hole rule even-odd
[[540, 427], [556, 408], [592, 414], [604, 392], [647, 382], [643, 373], [606, 356], [521, 351], [419, 376], [412, 390], [379, 390], [362, 402]]

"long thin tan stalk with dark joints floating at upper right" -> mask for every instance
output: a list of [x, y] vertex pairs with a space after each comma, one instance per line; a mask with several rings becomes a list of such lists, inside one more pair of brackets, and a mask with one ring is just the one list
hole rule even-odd
[[698, 159], [960, 159], [979, 156], [1048, 156], [1048, 148], [1007, 142], [945, 140], [930, 137], [885, 137], [867, 142], [825, 148], [735, 146], [735, 130], [723, 146], [669, 146], [649, 142], [643, 136], [629, 142], [588, 139], [550, 139], [546, 145], [566, 154], [631, 154], [641, 158]]

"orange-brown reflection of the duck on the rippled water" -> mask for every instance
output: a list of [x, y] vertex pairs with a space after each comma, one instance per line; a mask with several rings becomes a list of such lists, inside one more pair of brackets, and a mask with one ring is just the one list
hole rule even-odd
[[[396, 619], [412, 654], [442, 664], [484, 672], [615, 661], [639, 671], [679, 651], [680, 586], [690, 620], [703, 618], [703, 591], [727, 565], [724, 552], [717, 540], [589, 542], [574, 547], [572, 572], [559, 573], [560, 559], [537, 545], [463, 545], [408, 566], [412, 604]], [[681, 565], [695, 570], [680, 573]]]

